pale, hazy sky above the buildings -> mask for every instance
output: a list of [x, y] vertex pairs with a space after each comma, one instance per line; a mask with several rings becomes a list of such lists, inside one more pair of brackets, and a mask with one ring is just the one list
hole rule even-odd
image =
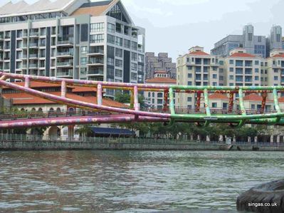
[[241, 34], [246, 24], [253, 24], [259, 36], [268, 36], [273, 25], [284, 27], [284, 0], [121, 1], [132, 21], [146, 29], [146, 51], [168, 52], [173, 61], [192, 46], [209, 53], [214, 43]]

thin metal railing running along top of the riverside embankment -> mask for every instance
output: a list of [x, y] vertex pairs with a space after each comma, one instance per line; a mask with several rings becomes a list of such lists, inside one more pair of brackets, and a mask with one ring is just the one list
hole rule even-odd
[[[174, 140], [139, 137], [80, 137], [70, 138], [65, 136], [48, 135], [16, 135], [0, 134], [0, 142], [86, 142], [86, 143], [137, 143], [137, 144], [184, 144], [184, 145], [226, 145], [224, 141], [197, 141]], [[231, 145], [256, 146], [256, 147], [284, 147], [280, 142], [232, 142]]]

